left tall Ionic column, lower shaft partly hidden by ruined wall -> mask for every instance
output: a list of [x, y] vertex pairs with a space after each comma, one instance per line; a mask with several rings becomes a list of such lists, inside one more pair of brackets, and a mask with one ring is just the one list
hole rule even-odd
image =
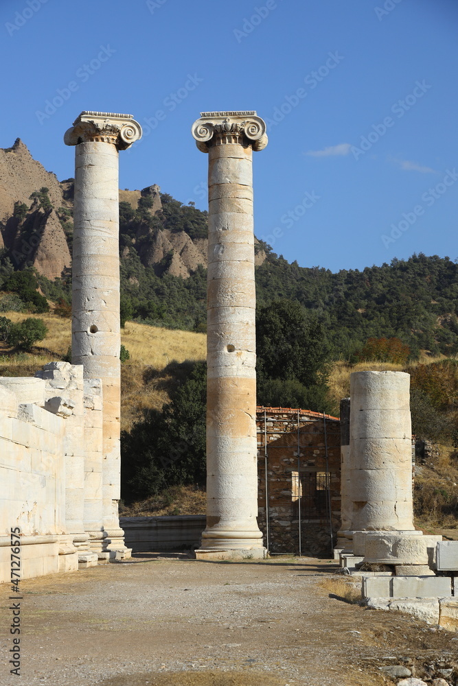
[[72, 362], [102, 379], [104, 549], [125, 556], [119, 527], [120, 363], [118, 151], [141, 137], [132, 115], [82, 112], [65, 134], [76, 145]]

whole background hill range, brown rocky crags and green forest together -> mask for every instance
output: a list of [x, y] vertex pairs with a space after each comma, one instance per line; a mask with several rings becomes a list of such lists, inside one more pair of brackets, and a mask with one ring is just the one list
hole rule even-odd
[[[205, 331], [207, 213], [157, 185], [121, 190], [119, 200], [122, 316]], [[72, 239], [73, 179], [59, 182], [19, 139], [0, 149], [0, 289], [15, 291], [14, 307], [45, 307], [30, 295], [38, 284], [49, 300], [69, 303]], [[458, 352], [458, 267], [448, 257], [413, 255], [333, 274], [290, 264], [262, 241], [255, 252], [258, 304], [299, 301], [325, 325], [335, 357], [382, 337], [400, 338], [413, 353]], [[23, 270], [38, 282], [31, 273], [10, 278]], [[0, 311], [12, 303], [0, 296]]]

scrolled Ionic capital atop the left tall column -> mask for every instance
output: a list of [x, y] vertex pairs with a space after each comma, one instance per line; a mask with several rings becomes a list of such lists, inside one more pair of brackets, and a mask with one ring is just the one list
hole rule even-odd
[[113, 143], [119, 150], [126, 150], [141, 138], [141, 126], [133, 115], [113, 112], [82, 112], [65, 132], [66, 145], [78, 145], [89, 141]]

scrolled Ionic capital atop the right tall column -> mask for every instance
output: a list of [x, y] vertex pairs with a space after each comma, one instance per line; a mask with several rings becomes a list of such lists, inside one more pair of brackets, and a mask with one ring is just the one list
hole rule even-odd
[[254, 110], [248, 112], [201, 112], [192, 125], [192, 135], [201, 152], [212, 145], [239, 143], [264, 150], [267, 145], [266, 122]]

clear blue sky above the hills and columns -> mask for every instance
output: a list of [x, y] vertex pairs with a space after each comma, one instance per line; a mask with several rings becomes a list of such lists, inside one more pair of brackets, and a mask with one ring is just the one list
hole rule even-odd
[[275, 252], [333, 271], [458, 257], [457, 0], [1, 0], [0, 30], [0, 147], [21, 137], [60, 180], [81, 110], [131, 113], [121, 187], [206, 209], [192, 122], [255, 109], [255, 233]]

